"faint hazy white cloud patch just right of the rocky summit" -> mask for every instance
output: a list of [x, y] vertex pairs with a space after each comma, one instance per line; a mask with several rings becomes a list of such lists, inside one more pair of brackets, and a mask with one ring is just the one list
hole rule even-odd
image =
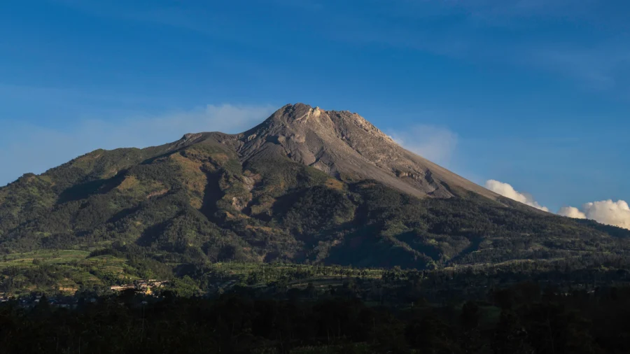
[[432, 125], [388, 130], [388, 134], [398, 145], [437, 164], [448, 165], [457, 146], [457, 134]]

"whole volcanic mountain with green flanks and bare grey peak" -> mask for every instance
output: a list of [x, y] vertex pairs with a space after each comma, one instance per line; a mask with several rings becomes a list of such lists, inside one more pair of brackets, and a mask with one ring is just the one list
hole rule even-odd
[[80, 248], [127, 257], [138, 272], [221, 260], [609, 259], [626, 257], [628, 236], [500, 197], [355, 113], [303, 104], [242, 134], [97, 150], [0, 188], [0, 253]]

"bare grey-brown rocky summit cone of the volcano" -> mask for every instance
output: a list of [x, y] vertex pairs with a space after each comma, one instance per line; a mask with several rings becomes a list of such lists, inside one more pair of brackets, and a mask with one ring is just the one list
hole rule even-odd
[[[232, 146], [243, 162], [282, 155], [335, 178], [377, 180], [415, 197], [452, 197], [457, 191], [497, 197], [405, 150], [365, 118], [349, 111], [288, 104], [248, 132], [207, 133], [204, 137]], [[199, 141], [197, 134], [186, 138]]]

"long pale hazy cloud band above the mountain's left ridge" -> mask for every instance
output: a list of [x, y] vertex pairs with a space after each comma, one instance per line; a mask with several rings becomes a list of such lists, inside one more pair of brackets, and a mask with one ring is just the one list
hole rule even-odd
[[195, 132], [238, 133], [262, 122], [274, 106], [208, 105], [160, 116], [83, 120], [70, 129], [7, 123], [0, 131], [0, 186], [40, 174], [97, 148], [144, 148]]

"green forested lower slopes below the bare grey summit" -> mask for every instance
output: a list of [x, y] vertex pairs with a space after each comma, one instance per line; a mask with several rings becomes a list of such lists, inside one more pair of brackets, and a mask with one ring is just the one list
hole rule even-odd
[[0, 271], [9, 272], [0, 281], [5, 292], [185, 275], [200, 281], [221, 262], [629, 263], [628, 230], [458, 195], [416, 199], [267, 150], [241, 163], [216, 136], [97, 150], [0, 188]]

